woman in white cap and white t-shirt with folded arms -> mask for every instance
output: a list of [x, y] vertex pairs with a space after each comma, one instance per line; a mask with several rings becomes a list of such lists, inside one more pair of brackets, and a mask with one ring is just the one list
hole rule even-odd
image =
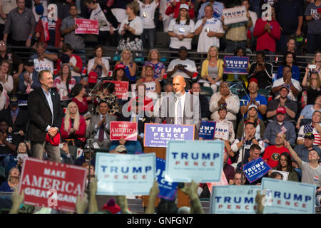
[[188, 14], [189, 6], [180, 5], [180, 12], [177, 19], [172, 19], [168, 26], [168, 35], [170, 36], [170, 50], [178, 50], [185, 46], [190, 50], [192, 48], [192, 38], [194, 36], [194, 21]]

